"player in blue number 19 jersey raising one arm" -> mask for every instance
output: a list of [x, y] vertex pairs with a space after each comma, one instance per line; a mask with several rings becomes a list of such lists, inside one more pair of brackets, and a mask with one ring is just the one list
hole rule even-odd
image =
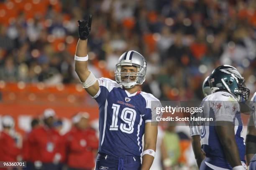
[[[79, 20], [78, 23], [75, 71], [100, 110], [96, 170], [149, 170], [157, 138], [157, 125], [153, 124], [157, 124], [158, 115], [154, 108], [161, 107], [161, 103], [140, 90], [145, 81], [146, 60], [136, 51], [127, 51], [115, 65], [115, 81], [104, 77], [97, 79], [87, 67], [86, 48], [92, 15], [87, 21]], [[141, 145], [143, 134], [144, 148]]]

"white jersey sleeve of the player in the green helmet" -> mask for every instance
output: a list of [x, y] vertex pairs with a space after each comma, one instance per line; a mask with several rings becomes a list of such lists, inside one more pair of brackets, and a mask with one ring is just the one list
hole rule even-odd
[[233, 96], [219, 96], [217, 100], [212, 101], [212, 110], [214, 111], [216, 121], [233, 122], [236, 112], [240, 112], [240, 106]]

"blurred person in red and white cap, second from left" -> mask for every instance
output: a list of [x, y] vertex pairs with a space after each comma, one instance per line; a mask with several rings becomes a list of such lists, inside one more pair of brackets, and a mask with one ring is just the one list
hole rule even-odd
[[32, 161], [36, 169], [41, 170], [61, 170], [60, 144], [61, 137], [53, 127], [55, 121], [55, 111], [44, 110], [44, 125], [32, 130], [28, 136], [28, 143], [31, 150], [35, 152]]

